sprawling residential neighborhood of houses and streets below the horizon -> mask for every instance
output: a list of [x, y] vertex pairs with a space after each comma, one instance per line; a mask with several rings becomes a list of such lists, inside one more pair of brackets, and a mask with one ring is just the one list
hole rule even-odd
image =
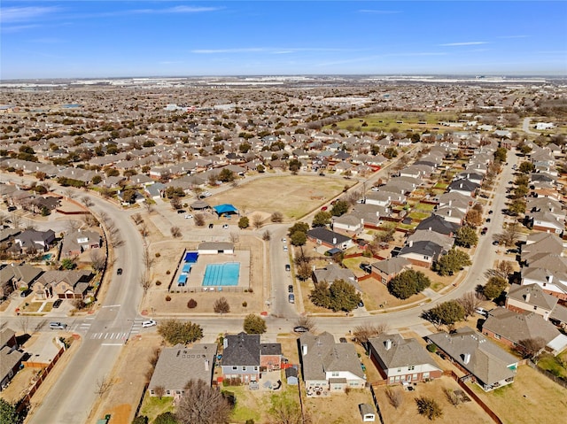
[[567, 413], [564, 85], [236, 80], [0, 87], [22, 422]]

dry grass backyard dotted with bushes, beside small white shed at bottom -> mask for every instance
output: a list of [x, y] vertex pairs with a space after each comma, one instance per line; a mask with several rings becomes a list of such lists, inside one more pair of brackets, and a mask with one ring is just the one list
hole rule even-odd
[[[493, 420], [478, 406], [473, 400], [464, 402], [460, 405], [453, 406], [447, 400], [444, 389], [457, 390], [459, 385], [449, 377], [442, 377], [433, 382], [418, 383], [413, 391], [405, 391], [401, 386], [392, 386], [394, 391], [399, 391], [403, 397], [402, 405], [395, 409], [388, 401], [385, 395], [386, 386], [379, 387], [375, 390], [380, 411], [384, 417], [384, 423], [390, 424], [395, 422], [411, 422], [412, 424], [420, 424], [431, 422], [427, 418], [419, 415], [416, 406], [416, 397], [432, 397], [437, 401], [443, 415], [436, 419], [436, 423], [461, 423], [474, 422], [475, 424], [489, 424]], [[511, 404], [510, 404], [511, 405]], [[535, 422], [535, 421], [534, 421]]]

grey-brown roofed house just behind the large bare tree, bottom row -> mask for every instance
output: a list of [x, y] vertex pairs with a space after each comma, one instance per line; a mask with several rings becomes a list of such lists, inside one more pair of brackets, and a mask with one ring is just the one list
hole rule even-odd
[[[182, 397], [190, 381], [202, 380], [211, 385], [216, 352], [216, 343], [195, 343], [191, 347], [179, 343], [164, 348], [148, 385], [150, 396]], [[159, 395], [158, 388], [163, 388], [164, 393]]]

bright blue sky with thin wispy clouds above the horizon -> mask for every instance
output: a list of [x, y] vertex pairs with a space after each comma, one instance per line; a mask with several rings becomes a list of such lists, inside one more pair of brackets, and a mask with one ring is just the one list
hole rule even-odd
[[10, 1], [0, 78], [567, 74], [567, 2]]

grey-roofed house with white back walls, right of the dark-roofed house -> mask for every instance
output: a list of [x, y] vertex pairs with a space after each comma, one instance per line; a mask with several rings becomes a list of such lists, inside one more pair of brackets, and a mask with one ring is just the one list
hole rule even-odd
[[334, 336], [326, 331], [299, 336], [299, 361], [307, 396], [324, 390], [360, 389], [366, 384], [353, 343], [335, 343]]

